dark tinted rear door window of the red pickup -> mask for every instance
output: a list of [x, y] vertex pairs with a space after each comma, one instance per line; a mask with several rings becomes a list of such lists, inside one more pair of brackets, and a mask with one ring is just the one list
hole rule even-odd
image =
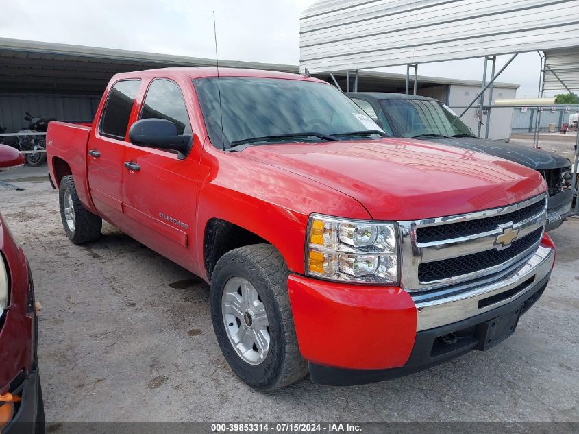
[[123, 80], [111, 89], [106, 102], [101, 134], [124, 140], [140, 80]]

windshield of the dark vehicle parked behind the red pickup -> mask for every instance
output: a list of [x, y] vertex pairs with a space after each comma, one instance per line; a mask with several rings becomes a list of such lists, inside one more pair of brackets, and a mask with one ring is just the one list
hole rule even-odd
[[380, 105], [395, 136], [473, 136], [471, 129], [440, 101], [382, 99]]

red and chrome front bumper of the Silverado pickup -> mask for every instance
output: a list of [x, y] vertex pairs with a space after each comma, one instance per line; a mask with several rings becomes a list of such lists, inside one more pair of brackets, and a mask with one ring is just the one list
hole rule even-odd
[[[517, 309], [527, 311], [547, 285], [554, 256], [545, 235], [539, 250], [509, 274], [430, 299], [412, 298], [399, 287], [290, 276], [297, 340], [312, 381], [329, 385], [381, 381], [489, 348], [482, 344], [489, 333], [487, 322]], [[453, 343], [447, 335], [458, 339]]]

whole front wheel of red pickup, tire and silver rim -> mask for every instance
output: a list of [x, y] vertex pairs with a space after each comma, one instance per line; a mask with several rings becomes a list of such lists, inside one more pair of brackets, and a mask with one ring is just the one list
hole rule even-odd
[[232, 370], [262, 390], [279, 389], [308, 372], [287, 291], [288, 268], [269, 244], [224, 254], [211, 278], [211, 317]]

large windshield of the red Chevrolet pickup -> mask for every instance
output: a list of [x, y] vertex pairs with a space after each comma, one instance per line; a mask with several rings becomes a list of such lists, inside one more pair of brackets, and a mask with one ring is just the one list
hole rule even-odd
[[[193, 82], [209, 137], [218, 148], [223, 147], [222, 135], [225, 147], [230, 147], [252, 143], [251, 138], [261, 138], [254, 143], [319, 142], [336, 134], [380, 130], [362, 109], [330, 84], [254, 77], [221, 77], [219, 88], [217, 77]], [[302, 133], [304, 136], [297, 136]]]

